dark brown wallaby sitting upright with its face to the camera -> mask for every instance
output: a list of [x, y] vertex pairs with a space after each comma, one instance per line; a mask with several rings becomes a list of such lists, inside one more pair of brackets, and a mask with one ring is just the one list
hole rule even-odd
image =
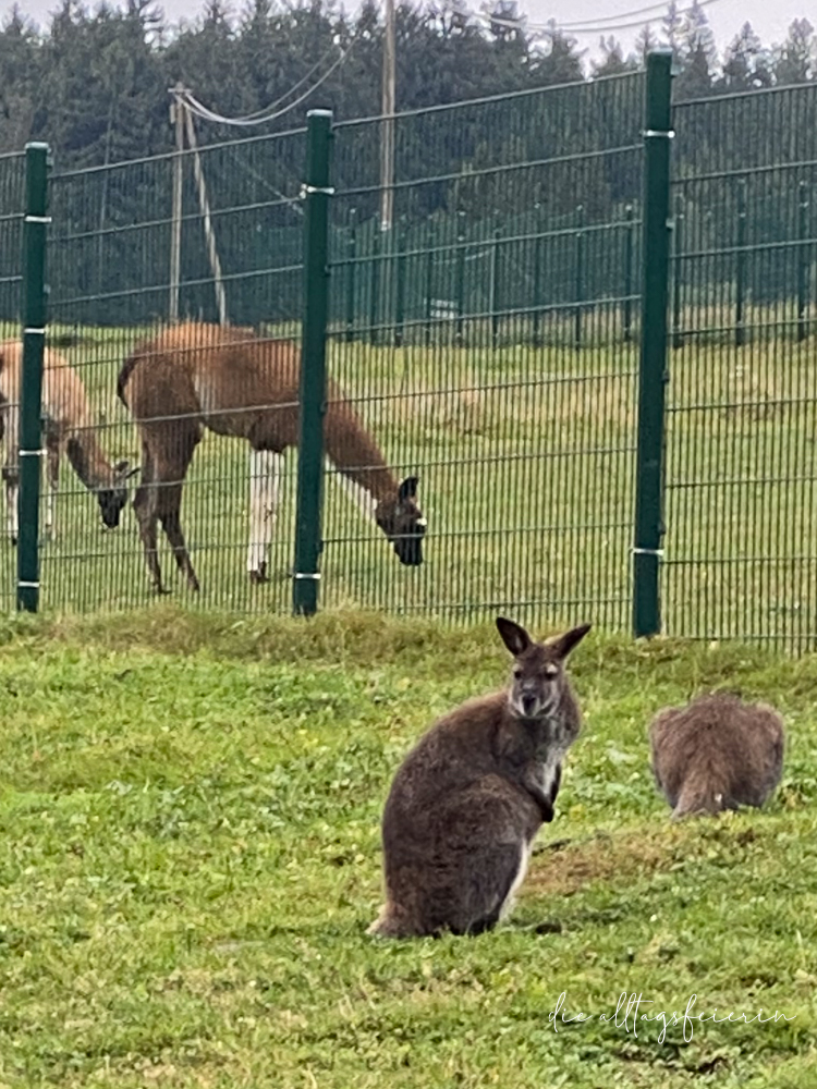
[[581, 713], [564, 660], [590, 629], [547, 643], [499, 617], [508, 688], [440, 719], [398, 770], [382, 822], [386, 904], [369, 933], [475, 934], [510, 908], [534, 837], [553, 819]]

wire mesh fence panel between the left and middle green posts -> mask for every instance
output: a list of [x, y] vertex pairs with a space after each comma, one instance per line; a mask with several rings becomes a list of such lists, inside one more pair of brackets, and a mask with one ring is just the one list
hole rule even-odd
[[[204, 607], [289, 607], [288, 517], [268, 563], [279, 577], [254, 587], [245, 565], [251, 482], [242, 436], [266, 392], [240, 366], [223, 388], [197, 368], [203, 354], [232, 365], [241, 332], [219, 346], [206, 340], [219, 319], [296, 332], [303, 159], [297, 131], [54, 173], [49, 346], [73, 392], [59, 406], [63, 466], [41, 548], [46, 607], [122, 608], [150, 600], [159, 585]], [[125, 199], [133, 194], [137, 200]], [[171, 343], [174, 314], [185, 323]], [[137, 350], [139, 362], [120, 381]], [[137, 387], [147, 393], [137, 396]], [[126, 498], [138, 499], [135, 509]], [[44, 524], [47, 504], [46, 494]], [[176, 582], [180, 534], [197, 594], [192, 579]], [[153, 554], [160, 584], [146, 565]]]

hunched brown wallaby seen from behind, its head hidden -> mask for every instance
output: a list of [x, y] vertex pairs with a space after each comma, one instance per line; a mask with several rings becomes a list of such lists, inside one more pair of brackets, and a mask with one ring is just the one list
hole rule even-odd
[[780, 782], [783, 721], [765, 703], [698, 696], [656, 715], [649, 741], [673, 818], [761, 806]]

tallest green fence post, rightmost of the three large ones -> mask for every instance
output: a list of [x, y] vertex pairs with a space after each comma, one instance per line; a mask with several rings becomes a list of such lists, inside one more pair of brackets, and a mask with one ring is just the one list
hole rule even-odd
[[672, 53], [647, 57], [644, 132], [642, 335], [633, 544], [633, 634], [661, 629], [660, 556], [663, 428], [667, 381], [667, 302], [670, 258], [670, 139]]

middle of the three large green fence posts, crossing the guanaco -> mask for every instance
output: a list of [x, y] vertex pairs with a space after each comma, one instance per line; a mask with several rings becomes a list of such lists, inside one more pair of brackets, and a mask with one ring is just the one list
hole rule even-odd
[[331, 110], [307, 114], [304, 196], [304, 316], [301, 351], [301, 420], [292, 608], [312, 616], [318, 608], [326, 411], [326, 337], [329, 311], [329, 148]]

